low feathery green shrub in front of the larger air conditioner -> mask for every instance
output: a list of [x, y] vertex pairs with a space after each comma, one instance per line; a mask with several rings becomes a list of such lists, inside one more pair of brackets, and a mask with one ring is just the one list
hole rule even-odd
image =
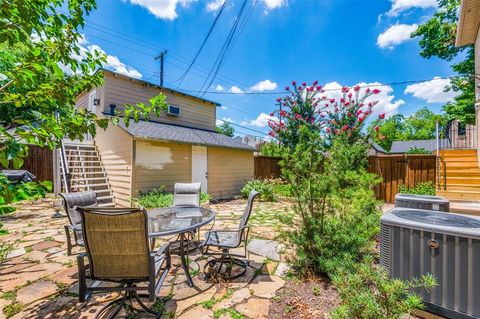
[[436, 286], [432, 275], [403, 281], [390, 279], [382, 267], [367, 257], [351, 269], [340, 269], [333, 276], [340, 295], [340, 306], [332, 313], [333, 319], [399, 319], [417, 309], [423, 309], [422, 299], [412, 290], [430, 290]]

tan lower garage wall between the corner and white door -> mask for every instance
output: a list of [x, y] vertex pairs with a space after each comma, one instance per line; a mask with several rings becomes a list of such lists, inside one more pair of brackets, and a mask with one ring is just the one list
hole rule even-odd
[[192, 146], [189, 144], [135, 141], [134, 194], [192, 179]]

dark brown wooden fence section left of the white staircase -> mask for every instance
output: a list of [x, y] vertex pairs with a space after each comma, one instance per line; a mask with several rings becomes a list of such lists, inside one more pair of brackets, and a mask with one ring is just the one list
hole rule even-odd
[[[53, 151], [49, 148], [42, 148], [30, 145], [28, 156], [20, 169], [24, 169], [37, 177], [37, 181], [54, 181], [53, 178]], [[5, 169], [0, 165], [1, 169]], [[13, 169], [9, 167], [8, 169]]]

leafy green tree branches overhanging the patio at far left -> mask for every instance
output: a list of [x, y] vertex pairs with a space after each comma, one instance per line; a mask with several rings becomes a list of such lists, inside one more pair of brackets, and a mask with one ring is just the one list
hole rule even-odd
[[[95, 70], [105, 55], [81, 46], [80, 30], [95, 8], [95, 0], [0, 1], [0, 165], [20, 168], [27, 144], [54, 149], [63, 138], [83, 139], [120, 120], [75, 107], [79, 93], [103, 81]], [[160, 115], [164, 98], [126, 105], [123, 120]], [[4, 183], [0, 209], [19, 191]]]

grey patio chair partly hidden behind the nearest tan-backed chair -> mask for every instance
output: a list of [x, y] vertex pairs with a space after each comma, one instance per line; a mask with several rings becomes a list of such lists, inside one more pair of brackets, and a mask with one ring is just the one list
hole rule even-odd
[[[74, 246], [84, 246], [82, 235], [82, 219], [78, 213], [77, 207], [93, 207], [97, 206], [97, 195], [94, 191], [85, 191], [77, 193], [61, 193], [65, 213], [67, 214], [69, 225], [65, 225], [65, 236], [67, 237], [67, 255], [72, 255]], [[72, 243], [72, 236], [75, 244]]]

